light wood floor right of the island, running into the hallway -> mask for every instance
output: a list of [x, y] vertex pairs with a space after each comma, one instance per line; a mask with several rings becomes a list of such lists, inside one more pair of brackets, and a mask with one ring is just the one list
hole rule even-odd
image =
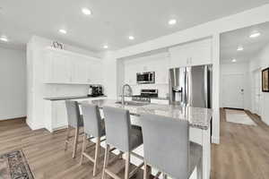
[[221, 109], [221, 144], [212, 145], [212, 179], [269, 178], [269, 127], [246, 113], [257, 126], [228, 123]]

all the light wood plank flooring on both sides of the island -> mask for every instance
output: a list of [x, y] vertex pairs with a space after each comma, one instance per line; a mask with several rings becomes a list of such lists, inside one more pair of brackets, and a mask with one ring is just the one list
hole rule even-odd
[[[212, 179], [269, 178], [269, 127], [256, 115], [247, 114], [258, 126], [228, 123], [221, 109], [221, 144], [212, 145]], [[65, 130], [31, 131], [24, 119], [0, 122], [0, 155], [22, 149], [36, 179], [93, 178], [91, 162], [79, 166], [81, 147], [73, 159], [71, 148], [64, 151], [64, 141]], [[123, 165], [119, 161], [115, 169]], [[142, 172], [136, 178], [143, 178]]]

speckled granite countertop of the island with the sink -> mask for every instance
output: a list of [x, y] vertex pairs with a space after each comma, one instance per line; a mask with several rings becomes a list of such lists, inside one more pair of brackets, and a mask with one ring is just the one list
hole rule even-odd
[[[123, 107], [121, 104], [116, 104], [117, 100], [113, 99], [82, 101], [81, 103], [84, 102], [98, 105], [100, 108], [104, 106]], [[146, 113], [174, 117], [179, 120], [187, 120], [191, 127], [202, 130], [207, 130], [209, 128], [213, 116], [212, 109], [200, 107], [148, 104], [144, 106], [125, 106], [124, 108], [129, 110], [130, 115], [140, 116], [141, 114]]]

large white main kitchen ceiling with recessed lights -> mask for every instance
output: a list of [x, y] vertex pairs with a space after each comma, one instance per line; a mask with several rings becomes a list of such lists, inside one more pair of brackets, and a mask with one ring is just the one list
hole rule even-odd
[[[269, 0], [0, 0], [0, 35], [22, 47], [35, 34], [99, 52], [118, 49], [245, 11]], [[92, 11], [91, 17], [81, 13]], [[170, 18], [178, 24], [169, 27]], [[67, 30], [66, 35], [58, 33]], [[130, 41], [127, 37], [134, 36]], [[1, 42], [3, 43], [3, 42]]]

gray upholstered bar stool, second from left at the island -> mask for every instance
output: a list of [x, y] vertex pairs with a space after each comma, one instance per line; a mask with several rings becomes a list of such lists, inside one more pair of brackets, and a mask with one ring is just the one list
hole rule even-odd
[[[105, 123], [104, 120], [101, 119], [100, 116], [100, 109], [97, 105], [91, 104], [82, 104], [82, 115], [83, 115], [83, 122], [84, 122], [84, 136], [83, 136], [83, 144], [82, 144], [82, 158], [81, 158], [81, 165], [83, 158], [88, 158], [93, 162], [93, 176], [97, 173], [97, 166], [100, 158], [100, 142], [104, 140], [100, 140], [103, 137], [105, 132]], [[88, 140], [95, 138], [95, 155], [94, 158], [86, 152]], [[90, 146], [91, 147], [91, 146]]]

